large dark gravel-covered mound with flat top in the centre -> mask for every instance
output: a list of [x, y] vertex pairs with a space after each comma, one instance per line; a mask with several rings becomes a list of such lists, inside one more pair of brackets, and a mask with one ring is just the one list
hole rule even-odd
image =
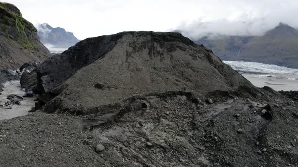
[[94, 110], [147, 93], [258, 92], [211, 50], [178, 33], [89, 38], [47, 59], [37, 73], [39, 92], [59, 94], [55, 104], [67, 110]]

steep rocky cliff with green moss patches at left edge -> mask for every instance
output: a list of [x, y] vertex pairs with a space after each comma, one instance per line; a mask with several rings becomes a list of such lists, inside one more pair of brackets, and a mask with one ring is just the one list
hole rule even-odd
[[50, 55], [20, 10], [0, 2], [0, 70], [17, 69], [29, 61], [42, 62]]

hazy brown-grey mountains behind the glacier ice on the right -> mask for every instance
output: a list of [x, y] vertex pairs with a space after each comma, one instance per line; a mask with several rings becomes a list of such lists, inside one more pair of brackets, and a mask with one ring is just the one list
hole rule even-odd
[[195, 43], [213, 50], [222, 60], [252, 61], [298, 68], [298, 30], [280, 23], [262, 36], [214, 35]]

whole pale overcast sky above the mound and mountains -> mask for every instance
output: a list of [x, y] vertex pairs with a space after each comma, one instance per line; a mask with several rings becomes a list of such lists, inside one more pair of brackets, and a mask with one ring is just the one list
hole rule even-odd
[[122, 31], [260, 35], [279, 22], [298, 27], [297, 0], [7, 0], [35, 26], [48, 23], [78, 39]]

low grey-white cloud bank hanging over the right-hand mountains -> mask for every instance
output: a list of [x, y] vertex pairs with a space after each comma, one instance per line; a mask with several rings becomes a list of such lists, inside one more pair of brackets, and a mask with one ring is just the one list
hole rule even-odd
[[[298, 28], [298, 1], [242, 1], [246, 9], [223, 15], [219, 19], [202, 17], [191, 22], [182, 22], [173, 30], [193, 40], [203, 36], [210, 38], [221, 35], [260, 36], [276, 27], [280, 22]], [[231, 15], [231, 16], [232, 16]]]

